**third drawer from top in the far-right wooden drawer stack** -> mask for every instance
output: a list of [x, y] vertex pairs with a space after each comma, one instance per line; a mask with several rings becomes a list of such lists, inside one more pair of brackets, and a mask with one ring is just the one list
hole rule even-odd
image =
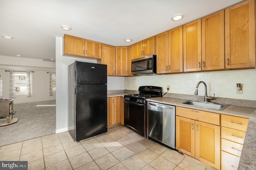
[[226, 139], [221, 139], [221, 150], [241, 156], [243, 145]]

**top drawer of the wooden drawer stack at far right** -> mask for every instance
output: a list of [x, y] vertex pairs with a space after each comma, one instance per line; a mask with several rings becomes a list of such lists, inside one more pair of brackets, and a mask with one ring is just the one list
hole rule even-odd
[[225, 127], [230, 127], [240, 131], [245, 131], [247, 129], [249, 119], [244, 117], [221, 115], [221, 125]]

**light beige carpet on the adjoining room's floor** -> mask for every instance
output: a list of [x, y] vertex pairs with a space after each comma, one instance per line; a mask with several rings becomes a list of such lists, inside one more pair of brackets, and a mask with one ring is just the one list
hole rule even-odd
[[17, 123], [0, 127], [0, 146], [9, 145], [36, 137], [50, 135], [56, 132], [56, 106], [55, 100], [15, 104], [14, 117]]

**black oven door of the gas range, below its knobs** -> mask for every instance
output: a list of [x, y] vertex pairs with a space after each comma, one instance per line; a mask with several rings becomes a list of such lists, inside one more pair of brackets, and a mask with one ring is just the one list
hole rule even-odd
[[146, 105], [124, 101], [124, 125], [146, 136]]

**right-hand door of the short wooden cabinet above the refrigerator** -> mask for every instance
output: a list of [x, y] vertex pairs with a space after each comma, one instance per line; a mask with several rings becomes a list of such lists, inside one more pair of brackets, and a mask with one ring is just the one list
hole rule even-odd
[[85, 56], [101, 59], [101, 43], [85, 39]]

